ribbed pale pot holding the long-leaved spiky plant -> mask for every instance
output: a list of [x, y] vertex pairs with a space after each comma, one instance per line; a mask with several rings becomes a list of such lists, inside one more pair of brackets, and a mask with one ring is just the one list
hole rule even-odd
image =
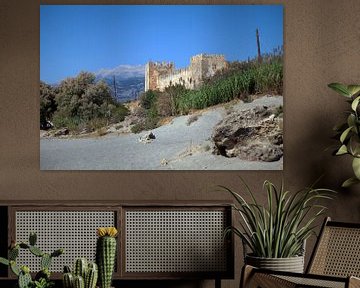
[[263, 258], [246, 255], [245, 263], [262, 269], [304, 273], [304, 256], [289, 258]]

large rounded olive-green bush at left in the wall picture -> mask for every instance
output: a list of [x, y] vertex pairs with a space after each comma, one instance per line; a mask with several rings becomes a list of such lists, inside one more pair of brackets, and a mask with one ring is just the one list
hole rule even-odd
[[[51, 120], [56, 128], [72, 132], [95, 131], [102, 126], [121, 122], [128, 109], [112, 96], [105, 82], [95, 82], [95, 75], [81, 72], [63, 80], [56, 89], [40, 83], [41, 123]], [[51, 102], [54, 98], [56, 108]]]

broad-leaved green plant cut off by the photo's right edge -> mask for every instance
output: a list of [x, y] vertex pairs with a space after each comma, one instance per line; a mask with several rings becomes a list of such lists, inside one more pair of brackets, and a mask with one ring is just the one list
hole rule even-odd
[[352, 157], [354, 177], [347, 179], [342, 184], [343, 187], [348, 187], [360, 183], [360, 85], [331, 83], [328, 86], [346, 97], [351, 106], [346, 122], [334, 127], [340, 142], [334, 155], [348, 154]]

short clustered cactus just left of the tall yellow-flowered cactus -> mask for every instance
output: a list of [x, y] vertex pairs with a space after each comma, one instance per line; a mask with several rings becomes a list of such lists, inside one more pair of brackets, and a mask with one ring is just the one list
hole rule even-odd
[[69, 266], [64, 267], [64, 288], [95, 288], [98, 279], [98, 267], [96, 263], [88, 262], [85, 258], [78, 258], [71, 272]]

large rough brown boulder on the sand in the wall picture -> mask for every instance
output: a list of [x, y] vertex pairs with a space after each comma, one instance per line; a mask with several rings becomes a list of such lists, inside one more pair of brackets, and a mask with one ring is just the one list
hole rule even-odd
[[214, 153], [250, 161], [277, 161], [283, 156], [283, 120], [276, 107], [234, 111], [213, 131]]

